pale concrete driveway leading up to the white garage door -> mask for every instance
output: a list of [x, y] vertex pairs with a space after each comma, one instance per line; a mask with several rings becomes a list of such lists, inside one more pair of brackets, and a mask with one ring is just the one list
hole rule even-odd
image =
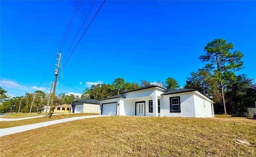
[[109, 115], [86, 115], [86, 116], [81, 116], [81, 117], [71, 117], [71, 118], [65, 118], [65, 119], [58, 119], [58, 120], [54, 120], [54, 121], [46, 121], [46, 122], [42, 122], [42, 123], [22, 125], [22, 126], [18, 126], [18, 127], [9, 127], [9, 128], [0, 129], [0, 137], [5, 136], [5, 135], [10, 135], [13, 133], [20, 133], [20, 132], [31, 130], [31, 129], [37, 129], [39, 127], [46, 127], [48, 125], [63, 123], [63, 122], [67, 122], [67, 121], [74, 121], [74, 120], [78, 120], [78, 119], [94, 118], [94, 117], [106, 117], [106, 116], [109, 116]]

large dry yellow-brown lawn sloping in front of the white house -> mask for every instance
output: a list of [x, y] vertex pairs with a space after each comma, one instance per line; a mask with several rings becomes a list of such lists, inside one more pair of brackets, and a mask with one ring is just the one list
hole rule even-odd
[[0, 155], [254, 157], [255, 131], [256, 120], [236, 117], [98, 117], [0, 137]]

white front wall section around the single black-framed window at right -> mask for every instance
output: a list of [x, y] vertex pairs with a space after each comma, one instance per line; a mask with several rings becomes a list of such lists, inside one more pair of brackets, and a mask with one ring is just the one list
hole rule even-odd
[[[170, 97], [180, 96], [180, 112], [170, 112]], [[160, 116], [196, 117], [193, 92], [163, 95], [160, 100]]]

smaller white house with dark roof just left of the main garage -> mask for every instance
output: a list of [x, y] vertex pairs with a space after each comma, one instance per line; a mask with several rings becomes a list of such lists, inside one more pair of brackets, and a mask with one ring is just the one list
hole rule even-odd
[[99, 113], [100, 103], [96, 99], [80, 99], [71, 102], [73, 113]]

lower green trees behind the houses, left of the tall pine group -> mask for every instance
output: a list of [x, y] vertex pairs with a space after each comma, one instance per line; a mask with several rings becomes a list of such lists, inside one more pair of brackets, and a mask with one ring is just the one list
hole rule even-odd
[[[72, 101], [78, 99], [103, 99], [106, 97], [118, 95], [124, 91], [130, 91], [141, 87], [148, 87], [152, 83], [141, 80], [139, 83], [130, 83], [124, 81], [123, 78], [116, 78], [111, 84], [100, 83], [92, 85], [90, 88], [86, 88], [84, 93], [79, 97], [74, 94], [59, 93], [54, 95], [53, 105], [71, 104]], [[157, 81], [154, 85], [161, 87], [178, 88], [178, 82], [174, 78], [167, 78], [166, 82]], [[10, 97], [7, 91], [0, 86], [0, 112], [2, 113], [29, 113], [29, 112], [40, 112], [42, 107], [47, 105], [49, 93], [43, 91], [35, 91], [34, 93], [26, 93], [25, 96]], [[52, 94], [51, 94], [52, 97]]]

